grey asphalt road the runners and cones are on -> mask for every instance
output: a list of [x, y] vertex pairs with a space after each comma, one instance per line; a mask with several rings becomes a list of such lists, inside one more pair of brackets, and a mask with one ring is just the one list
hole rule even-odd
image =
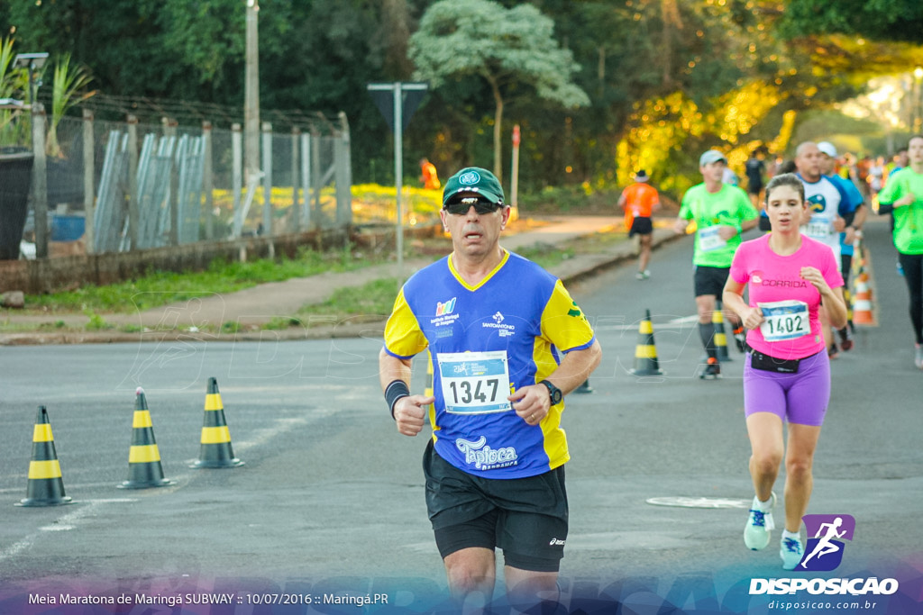
[[[916, 607], [923, 373], [913, 366], [906, 290], [883, 222], [869, 224], [867, 242], [880, 325], [862, 327], [857, 348], [833, 363], [809, 512], [857, 520], [837, 575], [894, 576]], [[620, 601], [634, 605], [630, 612], [657, 612], [670, 595], [689, 612], [713, 604], [746, 612], [748, 597], [738, 594], [749, 580], [783, 575], [774, 539], [758, 553], [742, 543], [747, 513], [733, 506], [752, 497], [742, 355], [731, 349], [723, 380], [698, 379], [690, 253], [690, 240], [672, 242], [653, 254], [650, 280], [635, 280], [633, 266], [624, 266], [570, 289], [604, 360], [593, 394], [569, 396], [565, 413], [566, 609], [596, 604], [605, 612]], [[638, 379], [628, 370], [646, 310], [665, 375]], [[174, 612], [264, 612], [251, 597], [262, 594], [300, 596], [300, 604], [271, 612], [357, 612], [319, 606], [324, 594], [380, 593], [401, 611], [440, 604], [445, 579], [420, 468], [426, 435], [394, 430], [378, 389], [380, 345], [380, 330], [370, 328], [351, 339], [279, 341], [268, 332], [237, 344], [0, 349], [0, 613], [24, 612], [17, 606], [30, 592], [65, 591], [162, 600], [227, 591], [234, 600], [200, 607], [190, 597]], [[189, 467], [199, 455], [210, 376], [243, 467]], [[424, 378], [418, 361], [415, 389]], [[116, 489], [128, 478], [138, 386], [164, 474], [175, 481], [169, 487]], [[16, 507], [26, 497], [40, 404], [74, 503]], [[781, 479], [776, 491], [781, 496]], [[725, 507], [647, 502], [679, 496]], [[912, 612], [890, 604], [875, 612]]]

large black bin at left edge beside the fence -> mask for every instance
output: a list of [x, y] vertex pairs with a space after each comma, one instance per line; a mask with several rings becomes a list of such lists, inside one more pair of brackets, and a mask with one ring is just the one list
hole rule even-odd
[[29, 208], [32, 153], [0, 148], [0, 260], [17, 260]]

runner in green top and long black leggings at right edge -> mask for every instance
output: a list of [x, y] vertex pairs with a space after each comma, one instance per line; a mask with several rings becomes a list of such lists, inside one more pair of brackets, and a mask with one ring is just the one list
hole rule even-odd
[[907, 145], [909, 166], [893, 174], [878, 194], [878, 213], [894, 215], [894, 247], [910, 292], [916, 336], [914, 364], [923, 370], [923, 135]]

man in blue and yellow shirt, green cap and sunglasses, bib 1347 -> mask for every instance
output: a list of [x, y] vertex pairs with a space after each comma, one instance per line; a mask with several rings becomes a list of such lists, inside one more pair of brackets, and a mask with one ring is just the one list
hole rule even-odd
[[[562, 397], [602, 350], [561, 281], [499, 245], [509, 206], [490, 171], [450, 177], [440, 217], [452, 253], [398, 294], [380, 381], [399, 432], [432, 425], [426, 507], [453, 596], [490, 599], [499, 548], [512, 603], [533, 604], [557, 594], [568, 533]], [[426, 349], [434, 395], [410, 395]]]

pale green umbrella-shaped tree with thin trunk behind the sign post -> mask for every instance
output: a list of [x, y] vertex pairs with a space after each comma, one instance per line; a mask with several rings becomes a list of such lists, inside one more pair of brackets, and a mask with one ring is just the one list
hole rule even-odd
[[410, 38], [414, 77], [438, 89], [448, 80], [483, 77], [494, 97], [494, 174], [501, 177], [504, 105], [510, 90], [531, 86], [538, 97], [565, 107], [590, 102], [571, 81], [579, 70], [554, 38], [554, 22], [531, 5], [506, 9], [489, 0], [441, 0], [430, 6]]

